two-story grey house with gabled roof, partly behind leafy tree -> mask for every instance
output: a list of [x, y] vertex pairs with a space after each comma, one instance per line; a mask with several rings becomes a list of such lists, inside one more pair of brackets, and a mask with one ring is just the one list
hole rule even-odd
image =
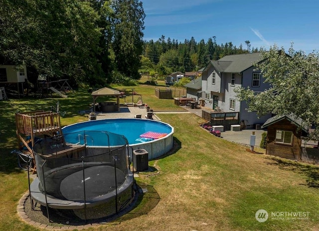
[[239, 112], [240, 121], [244, 121], [247, 128], [263, 124], [269, 119], [271, 114], [258, 118], [255, 112], [248, 112], [247, 103], [239, 101], [234, 91], [236, 87], [249, 86], [255, 92], [269, 88], [260, 71], [253, 66], [261, 58], [261, 53], [247, 53], [210, 61], [202, 72], [201, 98], [205, 100], [205, 106], [216, 111]]

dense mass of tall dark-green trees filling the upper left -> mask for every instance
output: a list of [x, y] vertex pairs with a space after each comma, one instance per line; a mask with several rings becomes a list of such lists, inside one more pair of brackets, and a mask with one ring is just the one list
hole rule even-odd
[[[74, 84], [138, 76], [145, 13], [138, 0], [0, 0], [0, 63]], [[106, 81], [107, 80], [107, 81]]]

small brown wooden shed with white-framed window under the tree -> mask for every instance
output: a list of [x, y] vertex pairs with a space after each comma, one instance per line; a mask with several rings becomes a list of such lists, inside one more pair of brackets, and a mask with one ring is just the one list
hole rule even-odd
[[261, 128], [267, 128], [266, 154], [301, 160], [302, 137], [309, 135], [301, 118], [294, 114], [274, 116]]

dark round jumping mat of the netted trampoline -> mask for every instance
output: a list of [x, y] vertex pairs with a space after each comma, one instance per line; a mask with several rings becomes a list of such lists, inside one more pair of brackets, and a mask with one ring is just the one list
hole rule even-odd
[[[116, 189], [115, 168], [112, 166], [93, 166], [84, 170], [85, 198], [92, 201]], [[117, 187], [125, 181], [125, 174], [116, 169]], [[84, 201], [83, 172], [78, 171], [65, 177], [60, 184], [60, 193], [69, 201]]]

